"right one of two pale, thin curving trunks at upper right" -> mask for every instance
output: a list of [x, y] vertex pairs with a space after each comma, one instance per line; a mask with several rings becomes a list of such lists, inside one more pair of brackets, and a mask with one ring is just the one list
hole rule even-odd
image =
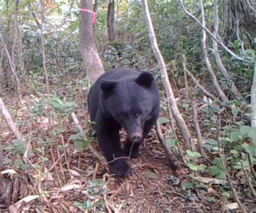
[[[214, 26], [215, 32], [214, 32], [214, 36], [217, 37], [218, 36], [218, 30], [219, 30], [218, 1], [217, 0], [215, 0], [214, 13], [215, 13], [215, 26]], [[230, 74], [228, 74], [226, 68], [223, 65], [223, 62], [221, 61], [219, 51], [218, 51], [217, 42], [214, 39], [212, 39], [212, 42], [213, 42], [213, 50], [214, 50], [215, 59], [216, 59], [217, 65], [218, 65], [221, 73], [224, 75], [224, 77], [226, 77], [227, 79], [230, 79], [231, 91], [234, 94], [234, 96], [239, 101], [244, 102], [245, 101], [244, 97], [242, 97], [242, 95], [239, 93], [237, 87], [235, 87], [235, 84], [234, 84], [233, 80], [231, 79]]]

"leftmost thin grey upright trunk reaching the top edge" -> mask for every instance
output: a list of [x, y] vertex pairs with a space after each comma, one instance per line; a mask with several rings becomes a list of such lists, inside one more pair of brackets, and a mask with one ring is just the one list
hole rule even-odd
[[18, 6], [19, 6], [19, 0], [16, 0], [15, 12], [14, 12], [15, 37], [16, 37], [17, 46], [18, 46], [17, 52], [18, 52], [19, 67], [21, 67], [21, 73], [24, 74], [25, 66], [24, 66], [23, 50], [22, 50], [22, 35], [21, 35], [21, 29], [19, 28], [19, 23], [18, 23]]

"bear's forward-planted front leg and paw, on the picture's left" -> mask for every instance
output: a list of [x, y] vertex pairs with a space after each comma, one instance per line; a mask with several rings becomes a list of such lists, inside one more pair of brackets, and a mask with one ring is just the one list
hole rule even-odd
[[119, 177], [125, 177], [127, 174], [131, 174], [132, 169], [127, 159], [125, 159], [125, 154], [121, 147], [119, 131], [97, 128], [96, 134], [99, 146], [109, 164], [110, 171]]

